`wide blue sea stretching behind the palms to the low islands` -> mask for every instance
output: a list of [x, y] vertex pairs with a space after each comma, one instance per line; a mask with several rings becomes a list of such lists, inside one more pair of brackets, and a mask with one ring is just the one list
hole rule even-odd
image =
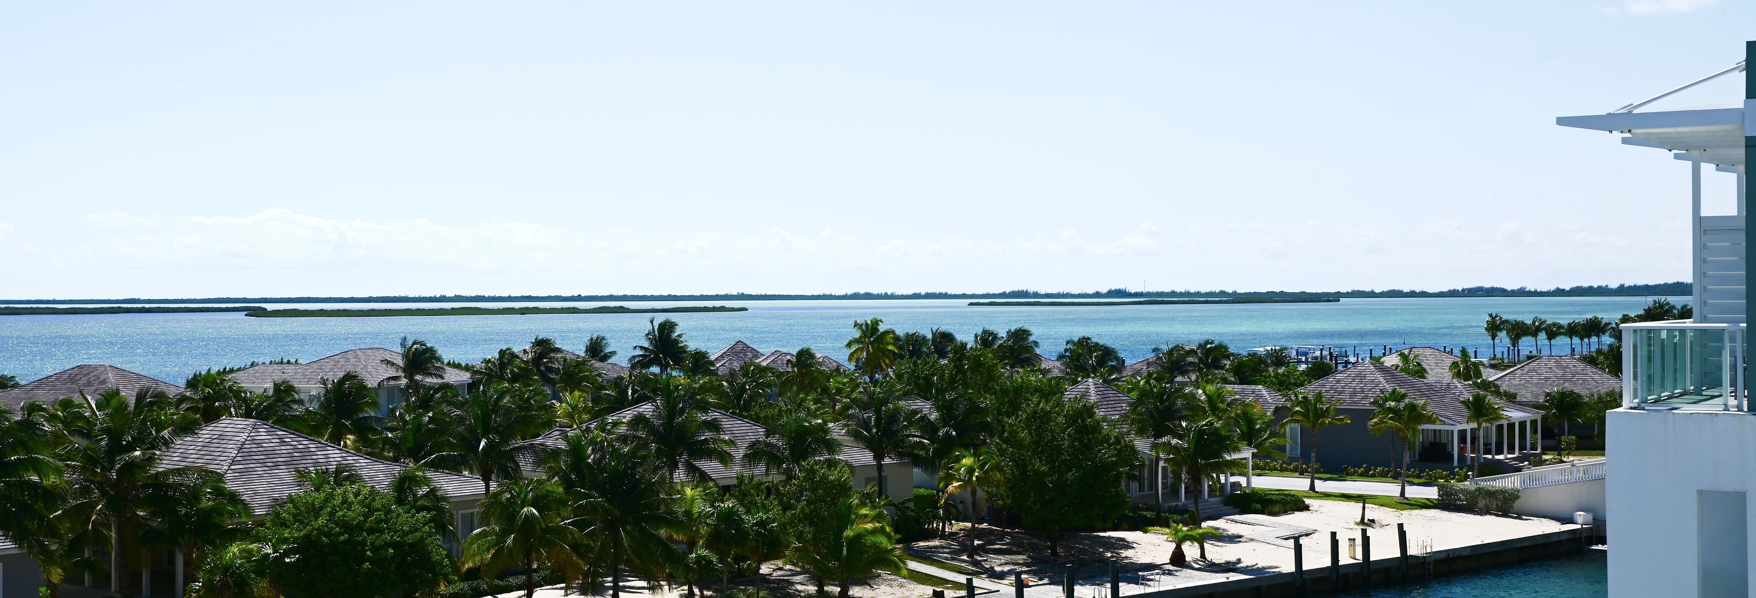
[[[1129, 360], [1152, 347], [1219, 338], [1233, 349], [1263, 345], [1368, 347], [1465, 345], [1487, 347], [1482, 319], [1507, 317], [1568, 321], [1635, 312], [1651, 298], [1366, 298], [1340, 303], [1243, 305], [1122, 305], [1122, 307], [969, 307], [968, 300], [873, 302], [641, 302], [641, 303], [481, 303], [486, 307], [673, 307], [739, 305], [748, 312], [669, 314], [681, 323], [690, 345], [718, 351], [745, 340], [762, 351], [813, 347], [838, 360], [846, 356], [852, 323], [883, 317], [899, 331], [934, 326], [969, 338], [982, 328], [1027, 326], [1054, 356], [1066, 338], [1090, 335], [1115, 345]], [[1670, 298], [1682, 303], [1688, 298]], [[277, 303], [272, 309], [311, 307], [460, 307], [471, 303]], [[107, 314], [107, 316], [0, 316], [0, 374], [33, 381], [79, 363], [109, 363], [170, 382], [195, 370], [244, 365], [251, 360], [318, 360], [355, 347], [395, 347], [404, 335], [439, 347], [450, 360], [476, 361], [500, 347], [553, 337], [579, 351], [590, 335], [608, 335], [618, 361], [646, 330], [648, 314], [555, 316], [435, 316], [435, 317], [244, 317], [242, 314]], [[660, 316], [666, 317], [666, 316]], [[1503, 344], [1505, 338], [1501, 338]], [[1528, 344], [1526, 344], [1528, 347]], [[1566, 352], [1566, 338], [1556, 342]]]

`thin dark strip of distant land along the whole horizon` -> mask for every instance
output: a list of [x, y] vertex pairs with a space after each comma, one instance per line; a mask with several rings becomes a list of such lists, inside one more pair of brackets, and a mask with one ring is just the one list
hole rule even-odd
[[379, 296], [209, 296], [209, 298], [119, 298], [119, 300], [0, 300], [11, 305], [77, 303], [488, 303], [488, 302], [797, 302], [797, 300], [1078, 300], [1078, 298], [1429, 298], [1429, 296], [1688, 296], [1689, 282], [1582, 284], [1533, 289], [1466, 286], [1449, 291], [1003, 291], [1003, 293], [820, 293], [820, 295], [379, 295]]

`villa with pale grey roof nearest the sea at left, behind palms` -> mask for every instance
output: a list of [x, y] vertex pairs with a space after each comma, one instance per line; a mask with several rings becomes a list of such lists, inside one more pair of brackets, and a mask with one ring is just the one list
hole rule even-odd
[[[274, 382], [291, 382], [299, 389], [299, 398], [309, 402], [313, 395], [321, 391], [323, 382], [341, 379], [342, 374], [358, 374], [365, 379], [365, 386], [378, 391], [379, 400], [388, 410], [402, 405], [402, 400], [407, 396], [407, 381], [397, 370], [400, 365], [400, 352], [369, 347], [348, 349], [311, 363], [260, 363], [227, 374], [227, 377], [251, 393], [267, 393], [274, 388]], [[453, 367], [443, 367], [443, 372], [439, 379], [421, 382], [451, 384], [458, 389], [469, 389], [469, 372]]]

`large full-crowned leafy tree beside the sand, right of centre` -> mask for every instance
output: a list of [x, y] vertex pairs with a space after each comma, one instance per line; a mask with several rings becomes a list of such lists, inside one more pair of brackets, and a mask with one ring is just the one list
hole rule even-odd
[[[1008, 410], [1001, 410], [1008, 412]], [[1024, 519], [1059, 556], [1061, 530], [1103, 526], [1127, 509], [1122, 482], [1140, 461], [1134, 444], [1092, 402], [1029, 396], [992, 444], [1003, 491], [996, 503]]]

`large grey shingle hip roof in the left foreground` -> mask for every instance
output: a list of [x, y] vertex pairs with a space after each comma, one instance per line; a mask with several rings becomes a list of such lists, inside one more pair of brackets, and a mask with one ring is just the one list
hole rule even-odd
[[[402, 463], [374, 459], [334, 444], [265, 423], [221, 417], [195, 430], [165, 451], [160, 468], [204, 466], [225, 477], [227, 488], [244, 496], [255, 516], [302, 489], [297, 470], [349, 466], [365, 484], [388, 489]], [[481, 496], [481, 479], [451, 472], [427, 472], [448, 500]]]

